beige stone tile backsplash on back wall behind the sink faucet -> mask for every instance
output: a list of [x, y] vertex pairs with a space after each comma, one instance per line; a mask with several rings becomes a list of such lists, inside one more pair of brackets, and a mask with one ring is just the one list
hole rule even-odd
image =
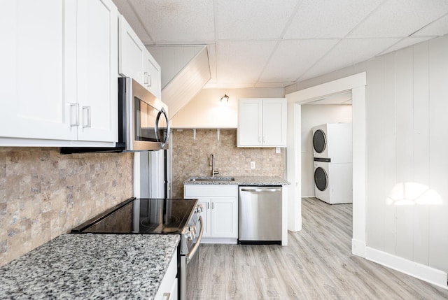
[[[219, 176], [279, 176], [283, 178], [285, 150], [275, 148], [238, 148], [237, 129], [192, 129], [172, 131], [173, 198], [183, 198], [183, 181], [190, 176], [209, 176], [210, 154], [214, 154]], [[255, 162], [255, 169], [251, 169]]]

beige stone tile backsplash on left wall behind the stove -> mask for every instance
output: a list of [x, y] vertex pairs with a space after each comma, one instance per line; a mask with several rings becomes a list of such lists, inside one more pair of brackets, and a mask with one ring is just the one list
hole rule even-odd
[[0, 147], [0, 265], [132, 197], [132, 153]]

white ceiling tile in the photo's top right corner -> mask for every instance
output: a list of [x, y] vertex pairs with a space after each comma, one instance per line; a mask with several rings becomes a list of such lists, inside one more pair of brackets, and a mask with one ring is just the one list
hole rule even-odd
[[386, 1], [349, 36], [409, 36], [448, 10], [447, 0]]

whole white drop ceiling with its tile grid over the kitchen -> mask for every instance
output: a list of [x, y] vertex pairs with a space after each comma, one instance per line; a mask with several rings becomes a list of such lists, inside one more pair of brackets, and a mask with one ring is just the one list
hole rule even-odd
[[146, 45], [209, 45], [215, 88], [285, 87], [448, 34], [448, 0], [113, 1]]

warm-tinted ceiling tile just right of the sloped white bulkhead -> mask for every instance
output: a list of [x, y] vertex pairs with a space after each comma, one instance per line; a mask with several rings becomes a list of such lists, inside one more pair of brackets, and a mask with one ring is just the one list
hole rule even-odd
[[269, 56], [274, 41], [222, 41], [218, 43], [218, 80], [223, 83], [254, 84]]

